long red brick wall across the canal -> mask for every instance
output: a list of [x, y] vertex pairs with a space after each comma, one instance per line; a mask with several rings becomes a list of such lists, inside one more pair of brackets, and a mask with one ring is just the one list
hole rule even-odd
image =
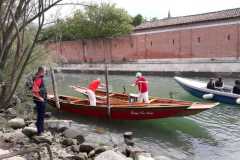
[[[196, 25], [195, 25], [196, 26]], [[154, 33], [133, 33], [113, 39], [49, 43], [67, 63], [163, 58], [239, 57], [239, 24], [209, 25]]]

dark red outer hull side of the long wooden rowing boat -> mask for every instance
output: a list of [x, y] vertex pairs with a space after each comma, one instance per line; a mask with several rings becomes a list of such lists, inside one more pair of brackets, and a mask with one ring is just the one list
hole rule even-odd
[[[54, 107], [55, 100], [49, 99], [48, 103]], [[118, 120], [149, 120], [149, 119], [159, 119], [168, 117], [180, 117], [194, 115], [209, 108], [212, 108], [217, 104], [210, 104], [205, 107], [195, 107], [191, 106], [154, 106], [154, 107], [122, 107], [114, 106], [111, 107], [110, 112], [107, 107], [103, 106], [89, 106], [89, 105], [78, 105], [60, 102], [60, 110], [63, 112], [74, 113], [82, 116], [90, 116], [105, 119], [118, 119]], [[110, 113], [110, 114], [109, 114]]]

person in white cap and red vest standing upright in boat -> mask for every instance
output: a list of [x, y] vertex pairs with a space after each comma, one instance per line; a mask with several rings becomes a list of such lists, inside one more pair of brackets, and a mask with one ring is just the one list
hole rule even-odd
[[149, 103], [148, 97], [148, 81], [142, 75], [141, 72], [137, 72], [136, 74], [136, 81], [134, 86], [138, 86], [138, 102]]

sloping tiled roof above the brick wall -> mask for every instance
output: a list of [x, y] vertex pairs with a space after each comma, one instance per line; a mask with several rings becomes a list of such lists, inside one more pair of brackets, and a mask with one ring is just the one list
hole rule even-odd
[[198, 22], [204, 22], [204, 21], [224, 20], [224, 19], [237, 18], [237, 17], [240, 17], [240, 8], [227, 9], [222, 11], [208, 12], [203, 14], [189, 15], [189, 16], [171, 17], [171, 18], [160, 19], [153, 22], [145, 22], [135, 27], [135, 31], [167, 27], [167, 26], [173, 26], [173, 25], [198, 23]]

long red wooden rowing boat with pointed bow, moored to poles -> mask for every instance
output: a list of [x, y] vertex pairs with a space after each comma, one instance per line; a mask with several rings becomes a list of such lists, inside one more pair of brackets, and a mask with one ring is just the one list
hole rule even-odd
[[[97, 91], [97, 106], [90, 106], [88, 99], [59, 96], [60, 109], [98, 118], [148, 120], [194, 115], [218, 105], [218, 103], [194, 103], [163, 98], [150, 98], [150, 103], [139, 103], [134, 101], [136, 97], [133, 97], [133, 101], [129, 101], [127, 94], [110, 93], [109, 95], [110, 107], [107, 105], [106, 92], [100, 90]], [[55, 100], [54, 96], [49, 96], [48, 103], [55, 106]]]

